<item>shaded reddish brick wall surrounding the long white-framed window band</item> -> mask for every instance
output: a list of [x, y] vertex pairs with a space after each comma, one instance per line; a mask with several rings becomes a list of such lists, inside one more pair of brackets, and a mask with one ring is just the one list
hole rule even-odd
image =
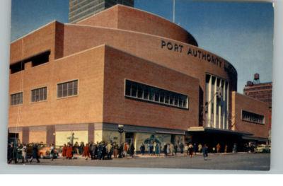
[[[125, 98], [125, 79], [189, 95], [189, 110]], [[198, 126], [199, 81], [106, 47], [103, 122], [184, 129]]]

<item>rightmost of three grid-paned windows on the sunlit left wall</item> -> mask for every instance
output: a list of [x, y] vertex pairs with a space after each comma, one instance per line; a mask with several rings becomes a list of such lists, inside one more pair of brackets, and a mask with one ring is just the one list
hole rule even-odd
[[78, 80], [57, 84], [57, 98], [78, 94]]

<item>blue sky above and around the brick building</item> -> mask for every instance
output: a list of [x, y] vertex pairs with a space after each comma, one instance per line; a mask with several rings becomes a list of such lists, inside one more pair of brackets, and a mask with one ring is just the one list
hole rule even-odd
[[[134, 7], [173, 21], [173, 0], [134, 0]], [[12, 0], [11, 40], [54, 20], [68, 23], [68, 13], [69, 0]], [[175, 23], [233, 64], [240, 93], [255, 73], [272, 81], [273, 20], [271, 3], [175, 0]]]

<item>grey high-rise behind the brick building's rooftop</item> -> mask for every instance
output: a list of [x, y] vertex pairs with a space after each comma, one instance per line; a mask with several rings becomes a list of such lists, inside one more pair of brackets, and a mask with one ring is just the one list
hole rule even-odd
[[69, 0], [69, 23], [76, 23], [116, 4], [134, 7], [134, 0]]

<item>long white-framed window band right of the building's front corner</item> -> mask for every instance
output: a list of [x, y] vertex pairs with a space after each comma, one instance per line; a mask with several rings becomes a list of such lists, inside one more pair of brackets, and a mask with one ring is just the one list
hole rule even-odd
[[151, 103], [188, 108], [188, 96], [142, 83], [126, 80], [125, 96]]

